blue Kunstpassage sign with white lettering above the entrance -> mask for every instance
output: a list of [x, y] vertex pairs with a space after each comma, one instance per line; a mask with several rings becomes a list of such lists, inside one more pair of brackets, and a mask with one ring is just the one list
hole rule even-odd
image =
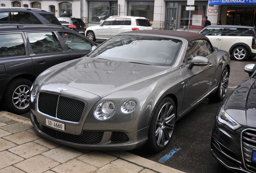
[[209, 5], [256, 5], [256, 0], [209, 0]]

